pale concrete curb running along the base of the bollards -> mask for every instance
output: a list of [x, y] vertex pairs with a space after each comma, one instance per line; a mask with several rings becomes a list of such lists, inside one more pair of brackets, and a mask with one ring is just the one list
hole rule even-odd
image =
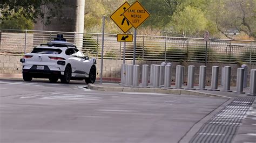
[[156, 92], [161, 94], [174, 94], [174, 95], [196, 95], [196, 96], [214, 96], [231, 98], [216, 94], [210, 94], [195, 90], [181, 90], [181, 89], [162, 89], [162, 88], [130, 88], [130, 87], [104, 87], [103, 85], [88, 84], [88, 89], [98, 90], [98, 91], [116, 91], [116, 92]]

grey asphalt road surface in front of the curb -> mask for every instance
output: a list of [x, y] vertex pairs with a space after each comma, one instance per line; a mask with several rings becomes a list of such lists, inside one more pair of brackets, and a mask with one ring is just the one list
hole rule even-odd
[[84, 87], [0, 80], [0, 142], [188, 142], [231, 102]]

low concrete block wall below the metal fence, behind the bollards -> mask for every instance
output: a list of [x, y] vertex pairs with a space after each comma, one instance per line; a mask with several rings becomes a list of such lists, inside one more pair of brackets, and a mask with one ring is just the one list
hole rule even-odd
[[[1, 74], [21, 74], [22, 73], [22, 64], [19, 62], [22, 56], [6, 56], [0, 55], [0, 73]], [[123, 60], [103, 60], [103, 77], [106, 78], [120, 78], [121, 77], [121, 65]], [[127, 61], [127, 64], [132, 64], [132, 61]], [[151, 65], [151, 64], [158, 64], [160, 65], [161, 62], [156, 61], [136, 61], [137, 65], [140, 65], [140, 77], [141, 77], [141, 70], [142, 65]], [[181, 63], [181, 62], [172, 62], [172, 82], [175, 81], [175, 74], [176, 74], [176, 66], [183, 65], [185, 66], [185, 82], [187, 81], [187, 67], [189, 65], [195, 66], [195, 83], [198, 83], [199, 79], [199, 67], [204, 66], [204, 63]], [[224, 63], [208, 63], [206, 69], [206, 84], [211, 85], [211, 74], [212, 74], [212, 66], [219, 66], [219, 84], [221, 82], [221, 67], [231, 66], [231, 85], [236, 84], [237, 79], [237, 68], [240, 66], [236, 64], [224, 64]], [[248, 65], [249, 71], [251, 69], [256, 69], [256, 65]], [[97, 77], [100, 76], [100, 60], [98, 60], [97, 64]], [[250, 76], [248, 76], [248, 83], [250, 81]]]

